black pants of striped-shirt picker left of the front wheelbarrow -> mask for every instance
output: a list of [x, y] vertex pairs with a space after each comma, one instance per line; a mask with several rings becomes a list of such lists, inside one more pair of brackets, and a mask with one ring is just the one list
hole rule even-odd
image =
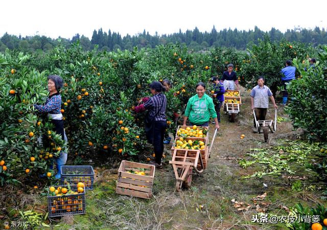
[[166, 121], [156, 121], [154, 122], [153, 131], [153, 147], [155, 153], [155, 162], [161, 164], [161, 157], [164, 153], [164, 135], [167, 128]]

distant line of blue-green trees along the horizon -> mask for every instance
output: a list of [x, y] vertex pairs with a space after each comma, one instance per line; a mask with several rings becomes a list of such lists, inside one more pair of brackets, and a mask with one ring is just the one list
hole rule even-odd
[[48, 52], [53, 47], [55, 47], [58, 42], [65, 45], [66, 48], [79, 41], [84, 50], [92, 50], [95, 45], [99, 46], [100, 50], [132, 50], [133, 47], [138, 48], [154, 48], [159, 44], [166, 44], [169, 42], [179, 42], [181, 44], [187, 45], [190, 50], [200, 51], [207, 50], [211, 47], [232, 47], [238, 50], [244, 50], [247, 48], [249, 43], [257, 43], [258, 39], [263, 39], [264, 35], [268, 35], [271, 41], [281, 41], [282, 39], [288, 41], [311, 43], [314, 46], [318, 44], [327, 44], [327, 33], [324, 28], [320, 30], [319, 27], [314, 29], [302, 29], [294, 28], [294, 30], [287, 30], [282, 33], [275, 28], [271, 28], [270, 31], [264, 32], [258, 27], [254, 27], [254, 30], [231, 30], [230, 28], [217, 31], [215, 26], [210, 32], [200, 32], [197, 27], [192, 30], [186, 30], [184, 33], [179, 30], [178, 33], [173, 34], [163, 34], [150, 35], [149, 32], [145, 30], [143, 33], [136, 35], [122, 36], [120, 33], [103, 32], [102, 28], [93, 31], [91, 40], [82, 35], [76, 34], [72, 39], [61, 38], [53, 39], [46, 36], [16, 36], [5, 33], [0, 39], [0, 52], [8, 49], [18, 49], [18, 50], [31, 50], [37, 51], [41, 50]]

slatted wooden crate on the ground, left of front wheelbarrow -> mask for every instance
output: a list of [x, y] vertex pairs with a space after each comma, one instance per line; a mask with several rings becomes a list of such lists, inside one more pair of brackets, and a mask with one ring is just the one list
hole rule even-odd
[[[145, 175], [127, 172], [130, 170], [139, 172], [140, 169], [145, 169]], [[152, 197], [154, 171], [155, 166], [153, 165], [122, 160], [118, 170], [116, 193], [150, 199]]]

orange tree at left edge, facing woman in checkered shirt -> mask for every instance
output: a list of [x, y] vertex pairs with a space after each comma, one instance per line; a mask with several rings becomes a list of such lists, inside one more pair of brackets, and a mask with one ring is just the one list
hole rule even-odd
[[[30, 55], [6, 51], [0, 54], [0, 183], [18, 182], [17, 178], [33, 178], [50, 172], [52, 158], [65, 145], [58, 135], [51, 134], [52, 124], [41, 122], [33, 104], [46, 97], [46, 76], [25, 63]], [[52, 143], [44, 149], [38, 142], [46, 135]]]

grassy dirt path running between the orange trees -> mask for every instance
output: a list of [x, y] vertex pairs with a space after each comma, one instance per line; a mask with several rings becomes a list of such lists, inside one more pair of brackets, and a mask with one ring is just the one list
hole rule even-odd
[[[172, 166], [166, 164], [156, 170], [152, 199], [120, 196], [114, 193], [116, 174], [102, 171], [95, 189], [87, 194], [87, 214], [63, 218], [63, 225], [54, 229], [284, 229], [285, 225], [251, 223], [252, 215], [258, 213], [251, 199], [267, 193], [265, 201], [270, 206], [266, 210], [281, 212], [280, 205], [291, 199], [287, 193], [281, 194], [285, 182], [279, 178], [241, 179], [252, 174], [255, 167], [243, 169], [238, 161], [251, 148], [275, 145], [278, 135], [291, 133], [292, 126], [284, 123], [265, 143], [262, 134], [252, 133], [248, 95], [241, 90], [243, 104], [235, 123], [229, 123], [227, 115], [222, 114], [208, 166], [203, 173], [193, 175], [190, 189], [175, 191], [175, 175]], [[269, 109], [269, 116], [272, 112]], [[209, 132], [211, 140], [213, 125]], [[243, 140], [241, 134], [245, 134]], [[170, 148], [166, 146], [166, 163], [171, 159]], [[238, 211], [235, 202], [240, 208], [251, 206]]]

